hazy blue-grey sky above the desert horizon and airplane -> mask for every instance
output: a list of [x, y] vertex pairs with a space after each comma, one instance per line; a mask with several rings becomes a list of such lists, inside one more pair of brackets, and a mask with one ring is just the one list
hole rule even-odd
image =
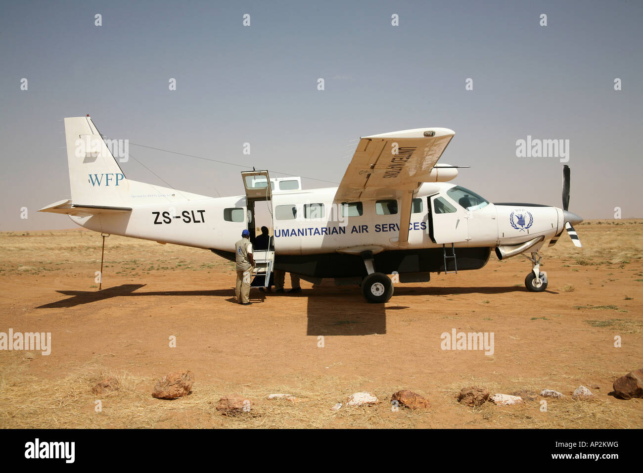
[[[490, 201], [557, 207], [563, 163], [517, 157], [516, 140], [569, 140], [570, 210], [643, 217], [643, 2], [303, 4], [3, 3], [0, 230], [75, 227], [36, 210], [69, 198], [62, 119], [87, 113], [131, 144], [336, 183], [351, 140], [448, 127], [440, 162], [471, 166], [455, 182]], [[240, 167], [130, 152], [175, 189], [243, 192]], [[134, 160], [121, 166], [164, 185]]]

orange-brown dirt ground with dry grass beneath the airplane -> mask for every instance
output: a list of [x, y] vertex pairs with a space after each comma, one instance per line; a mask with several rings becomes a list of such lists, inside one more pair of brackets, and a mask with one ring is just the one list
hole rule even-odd
[[[576, 229], [583, 248], [564, 234], [544, 249], [544, 293], [525, 289], [527, 259], [492, 255], [482, 270], [395, 284], [386, 304], [368, 304], [358, 287], [302, 281], [296, 295], [253, 289], [247, 307], [234, 300], [233, 264], [206, 250], [108, 237], [99, 291], [95, 232], [0, 233], [0, 332], [51, 332], [50, 355], [0, 351], [0, 427], [641, 428], [643, 399], [609, 393], [643, 367], [643, 221]], [[493, 355], [443, 350], [452, 329], [493, 332]], [[194, 373], [192, 394], [152, 398], [156, 380], [179, 369]], [[92, 394], [107, 375], [121, 390]], [[595, 396], [548, 399], [546, 411], [542, 398], [471, 408], [457, 402], [469, 385], [491, 394], [585, 385]], [[395, 411], [399, 389], [431, 408]], [[330, 410], [356, 391], [382, 402]], [[215, 405], [235, 393], [251, 410], [222, 416]]]

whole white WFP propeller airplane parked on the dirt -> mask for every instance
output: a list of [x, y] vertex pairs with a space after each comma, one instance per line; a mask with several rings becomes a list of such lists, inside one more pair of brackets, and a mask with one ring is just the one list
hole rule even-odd
[[[248, 229], [272, 229], [271, 245], [255, 248], [253, 286], [273, 270], [319, 283], [359, 284], [369, 302], [386, 302], [394, 280], [430, 281], [431, 272], [482, 268], [529, 254], [529, 291], [547, 288], [538, 251], [563, 230], [581, 246], [568, 212], [569, 168], [563, 169], [563, 208], [490, 203], [448, 183], [457, 167], [438, 160], [455, 134], [419, 128], [359, 140], [339, 187], [302, 190], [300, 178], [242, 172], [245, 194], [212, 198], [125, 177], [89, 115], [65, 118], [71, 199], [41, 209], [68, 214], [81, 227], [121, 236], [194, 246], [235, 261], [235, 241]], [[268, 185], [269, 183], [269, 185]], [[266, 201], [269, 222], [255, 222]]]

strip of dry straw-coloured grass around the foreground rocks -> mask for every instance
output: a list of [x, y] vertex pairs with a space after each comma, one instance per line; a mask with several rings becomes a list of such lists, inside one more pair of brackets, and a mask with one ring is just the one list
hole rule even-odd
[[[157, 400], [151, 391], [156, 379], [134, 376], [125, 371], [102, 369], [100, 359], [85, 366], [68, 366], [66, 375], [51, 380], [39, 380], [26, 374], [28, 357], [12, 353], [10, 363], [3, 363], [0, 375], [0, 427], [30, 428], [413, 428], [452, 427], [440, 419], [447, 409], [456, 410], [458, 424], [462, 427], [503, 428], [637, 428], [633, 403], [617, 400], [563, 400], [547, 399], [547, 412], [541, 412], [539, 400], [523, 405], [499, 407], [485, 403], [469, 408], [457, 402], [462, 387], [479, 385], [493, 393], [509, 393], [527, 389], [539, 393], [545, 387], [569, 393], [575, 387], [564, 375], [547, 380], [515, 378], [511, 383], [498, 384], [494, 380], [473, 378], [468, 373], [457, 373], [458, 382], [428, 393], [431, 409], [412, 411], [401, 408], [394, 412], [388, 400], [399, 386], [383, 386], [371, 392], [382, 401], [368, 407], [344, 407], [331, 411], [336, 402], [345, 402], [347, 396], [359, 391], [366, 382], [358, 379], [354, 385], [329, 393], [328, 387], [338, 380], [331, 376], [318, 376], [301, 380], [311, 385], [303, 390], [294, 385], [265, 387], [233, 386], [225, 382], [203, 385], [195, 382], [192, 394], [177, 400]], [[570, 367], [571, 369], [571, 367]], [[620, 373], [603, 373], [615, 378]], [[91, 387], [107, 376], [116, 376], [119, 391], [96, 396]], [[292, 403], [287, 400], [267, 400], [269, 393], [291, 393], [305, 401]], [[240, 394], [254, 405], [248, 413], [223, 416], [215, 407], [221, 396]], [[96, 399], [102, 401], [102, 412], [95, 412]]]

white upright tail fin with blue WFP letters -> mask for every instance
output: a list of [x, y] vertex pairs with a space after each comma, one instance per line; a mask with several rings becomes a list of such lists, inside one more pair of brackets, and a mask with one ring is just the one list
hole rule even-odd
[[129, 207], [129, 182], [89, 115], [65, 118], [65, 134], [74, 205]]

